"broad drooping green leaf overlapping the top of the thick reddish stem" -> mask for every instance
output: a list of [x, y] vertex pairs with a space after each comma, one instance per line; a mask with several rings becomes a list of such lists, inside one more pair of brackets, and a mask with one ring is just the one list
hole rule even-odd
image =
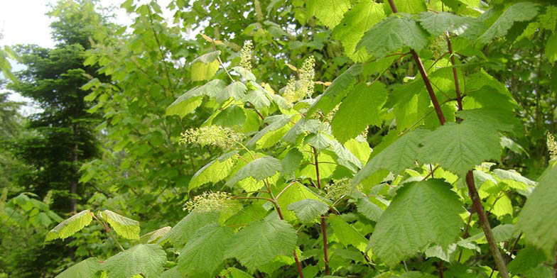
[[374, 57], [384, 57], [400, 48], [420, 51], [429, 43], [428, 34], [408, 16], [389, 16], [369, 29], [356, 46]]

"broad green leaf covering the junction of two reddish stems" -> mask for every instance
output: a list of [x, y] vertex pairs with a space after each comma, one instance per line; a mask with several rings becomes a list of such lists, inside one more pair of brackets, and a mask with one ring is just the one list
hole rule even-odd
[[489, 123], [445, 123], [423, 138], [418, 161], [438, 163], [443, 169], [464, 175], [487, 160], [499, 160], [499, 133]]

